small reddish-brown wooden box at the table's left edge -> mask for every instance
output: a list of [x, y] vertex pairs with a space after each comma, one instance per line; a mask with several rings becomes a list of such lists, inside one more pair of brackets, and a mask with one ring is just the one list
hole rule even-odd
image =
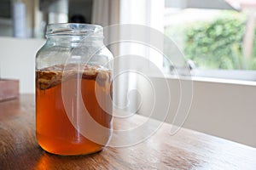
[[19, 96], [19, 80], [0, 79], [0, 102]]

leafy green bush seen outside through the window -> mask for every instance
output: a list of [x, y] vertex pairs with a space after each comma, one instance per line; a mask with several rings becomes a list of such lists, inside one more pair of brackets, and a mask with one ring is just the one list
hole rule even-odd
[[255, 48], [250, 61], [242, 57], [245, 27], [245, 14], [237, 12], [224, 12], [215, 20], [186, 26], [185, 57], [194, 60], [199, 68], [255, 69]]

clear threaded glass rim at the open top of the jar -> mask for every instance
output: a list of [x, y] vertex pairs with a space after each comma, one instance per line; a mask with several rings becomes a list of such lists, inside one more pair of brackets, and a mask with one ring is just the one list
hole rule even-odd
[[46, 37], [50, 36], [81, 36], [103, 37], [103, 27], [92, 24], [58, 23], [49, 24], [46, 28]]

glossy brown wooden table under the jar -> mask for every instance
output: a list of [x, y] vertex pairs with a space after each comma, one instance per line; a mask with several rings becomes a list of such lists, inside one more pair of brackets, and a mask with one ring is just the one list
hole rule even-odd
[[[143, 119], [133, 117], [134, 122]], [[170, 128], [165, 123], [129, 147], [55, 156], [42, 150], [35, 138], [34, 96], [20, 95], [0, 103], [0, 169], [256, 169], [255, 148], [184, 128], [170, 135]]]

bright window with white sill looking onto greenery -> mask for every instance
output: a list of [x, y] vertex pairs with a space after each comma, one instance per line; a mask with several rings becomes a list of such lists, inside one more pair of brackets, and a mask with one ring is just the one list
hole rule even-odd
[[256, 3], [233, 2], [166, 0], [165, 34], [192, 75], [256, 81]]

